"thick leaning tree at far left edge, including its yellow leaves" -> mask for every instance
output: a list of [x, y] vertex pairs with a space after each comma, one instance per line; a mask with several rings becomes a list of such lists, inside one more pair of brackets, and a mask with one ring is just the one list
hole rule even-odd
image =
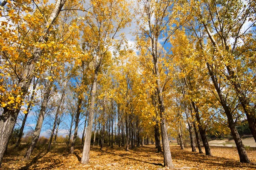
[[[56, 18], [58, 17], [58, 14], [61, 11], [61, 8], [64, 6], [66, 0], [57, 0], [55, 3], [55, 7], [52, 11], [52, 13], [50, 14], [47, 22], [44, 25], [44, 28], [41, 32], [41, 36], [38, 38], [37, 43], [35, 43], [35, 45], [33, 47], [31, 47], [31, 57], [29, 58], [29, 60], [26, 61], [25, 63], [25, 67], [23, 70], [20, 71], [20, 74], [18, 74], [19, 76], [17, 84], [14, 85], [14, 90], [11, 94], [6, 94], [8, 96], [10, 96], [11, 100], [10, 101], [6, 101], [3, 100], [3, 98], [1, 99], [1, 106], [3, 107], [3, 114], [0, 116], [0, 133], [1, 138], [0, 138], [0, 143], [1, 143], [1, 147], [0, 147], [0, 163], [2, 162], [3, 159], [3, 153], [4, 150], [6, 149], [8, 140], [9, 140], [9, 136], [12, 133], [12, 129], [15, 125], [18, 113], [20, 111], [21, 108], [21, 101], [24, 99], [24, 97], [27, 94], [27, 91], [29, 89], [29, 85], [32, 81], [33, 75], [34, 75], [34, 71], [35, 71], [35, 65], [36, 62], [38, 61], [38, 59], [41, 57], [42, 51], [43, 51], [43, 47], [44, 43], [48, 41], [48, 34], [50, 32], [50, 28], [52, 28], [52, 24], [55, 22]], [[20, 4], [16, 4], [17, 6], [20, 6]], [[11, 5], [11, 4], [10, 4]], [[19, 8], [15, 7], [15, 9], [19, 10]], [[22, 9], [24, 10], [24, 8]], [[10, 19], [16, 19], [15, 16], [12, 14], [13, 10], [9, 10], [7, 11], [8, 13], [10, 13], [11, 17]], [[28, 16], [28, 15], [27, 15]], [[28, 19], [28, 18], [27, 18]], [[17, 23], [14, 22], [14, 23]], [[7, 23], [5, 23], [7, 26]], [[2, 28], [1, 28], [2, 29]], [[6, 29], [6, 28], [4, 28]], [[3, 31], [6, 35], [6, 38], [11, 38], [11, 34], [9, 34], [9, 32], [7, 33], [6, 31]], [[9, 35], [8, 35], [9, 34]], [[14, 54], [12, 53], [12, 49], [10, 49], [8, 46], [8, 42], [7, 44], [2, 43], [2, 52], [4, 52], [3, 56], [6, 56], [6, 58], [11, 58], [11, 57], [15, 57], [13, 55], [16, 55], [17, 58], [17, 53]], [[21, 45], [21, 44], [20, 44]], [[18, 46], [17, 46], [18, 49]], [[12, 56], [9, 57], [9, 54], [12, 54]], [[9, 64], [9, 67], [12, 68], [12, 63]], [[13, 70], [13, 69], [12, 69]], [[3, 91], [3, 89], [2, 89]], [[9, 99], [9, 97], [7, 98]], [[17, 106], [15, 106], [17, 105]]]

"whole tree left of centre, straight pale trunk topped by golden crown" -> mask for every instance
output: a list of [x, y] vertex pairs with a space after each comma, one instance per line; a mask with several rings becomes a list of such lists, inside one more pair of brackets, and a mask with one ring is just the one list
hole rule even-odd
[[[93, 126], [93, 111], [97, 88], [98, 74], [102, 65], [111, 58], [109, 50], [117, 45], [116, 33], [130, 22], [128, 3], [125, 0], [92, 0], [91, 11], [84, 18], [84, 42], [89, 48], [89, 56], [93, 58], [93, 82], [90, 94], [90, 107], [87, 131]], [[93, 35], [90, 36], [90, 35]], [[93, 38], [91, 41], [90, 38]], [[91, 133], [86, 133], [81, 163], [89, 162]]]

